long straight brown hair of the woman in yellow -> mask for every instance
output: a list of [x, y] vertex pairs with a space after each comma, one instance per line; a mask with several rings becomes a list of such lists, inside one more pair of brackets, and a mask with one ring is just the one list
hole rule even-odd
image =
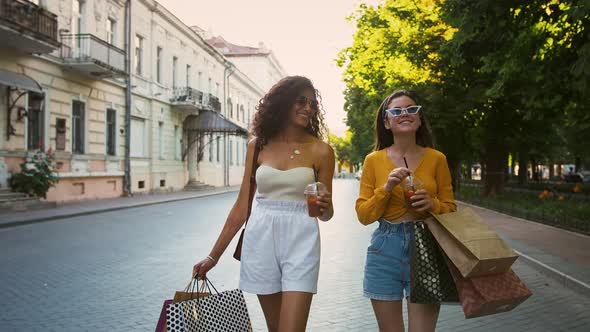
[[[418, 95], [416, 94], [416, 92], [412, 90], [396, 90], [392, 94], [387, 96], [385, 100], [383, 100], [383, 102], [377, 109], [377, 114], [375, 116], [375, 145], [373, 148], [374, 151], [385, 149], [386, 147], [389, 147], [394, 143], [393, 134], [391, 133], [391, 130], [385, 128], [385, 110], [387, 109], [387, 106], [389, 105], [389, 103], [391, 103], [392, 100], [401, 96], [411, 98], [416, 104], [418, 104], [419, 102]], [[422, 122], [422, 124], [420, 125], [420, 127], [418, 127], [418, 130], [416, 131], [416, 144], [423, 147], [434, 148], [434, 136], [432, 135], [432, 131], [430, 130], [430, 124], [428, 122], [428, 119], [426, 118], [426, 114], [424, 113], [424, 107], [420, 109], [420, 112], [418, 112], [418, 114], [420, 116], [420, 121]]]

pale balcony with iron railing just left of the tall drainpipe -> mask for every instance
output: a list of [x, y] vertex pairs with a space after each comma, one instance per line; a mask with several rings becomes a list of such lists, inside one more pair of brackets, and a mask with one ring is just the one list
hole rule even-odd
[[91, 34], [61, 35], [64, 66], [91, 78], [125, 76], [125, 51]]

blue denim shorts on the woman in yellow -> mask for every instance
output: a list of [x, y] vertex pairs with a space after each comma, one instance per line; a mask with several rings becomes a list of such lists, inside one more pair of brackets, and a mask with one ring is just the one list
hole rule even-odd
[[367, 248], [364, 295], [370, 299], [399, 301], [410, 296], [410, 245], [412, 222], [392, 224], [379, 220]]

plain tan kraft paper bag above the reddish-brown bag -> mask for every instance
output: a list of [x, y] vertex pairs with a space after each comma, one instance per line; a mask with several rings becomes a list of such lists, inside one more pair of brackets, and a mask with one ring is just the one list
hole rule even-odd
[[465, 278], [506, 273], [518, 258], [470, 208], [427, 218], [436, 241]]

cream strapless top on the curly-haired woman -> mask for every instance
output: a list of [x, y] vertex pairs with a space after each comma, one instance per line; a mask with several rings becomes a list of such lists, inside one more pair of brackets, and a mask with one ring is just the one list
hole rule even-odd
[[258, 196], [281, 201], [304, 201], [305, 186], [315, 182], [311, 167], [295, 167], [287, 170], [260, 165], [256, 170]]

